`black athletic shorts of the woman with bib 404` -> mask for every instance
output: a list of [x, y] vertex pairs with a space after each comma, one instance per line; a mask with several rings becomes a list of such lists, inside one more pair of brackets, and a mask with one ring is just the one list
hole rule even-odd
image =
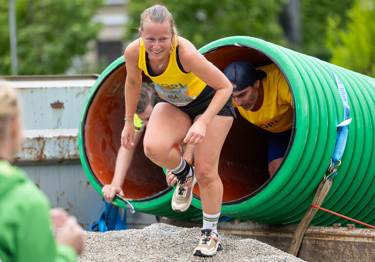
[[[199, 94], [198, 97], [194, 99], [194, 101], [191, 101], [186, 106], [177, 108], [179, 108], [182, 112], [187, 113], [190, 116], [191, 121], [194, 121], [194, 118], [197, 115], [203, 114], [206, 111], [215, 93], [216, 90], [214, 90], [210, 86], [206, 86], [201, 94]], [[156, 101], [154, 106], [162, 102], [168, 103], [166, 100], [160, 98], [158, 93], [155, 92], [155, 95]], [[234, 116], [234, 118], [237, 118], [236, 112], [234, 111], [233, 107], [232, 95], [230, 95], [227, 103], [225, 103], [224, 107], [217, 113], [217, 115]]]

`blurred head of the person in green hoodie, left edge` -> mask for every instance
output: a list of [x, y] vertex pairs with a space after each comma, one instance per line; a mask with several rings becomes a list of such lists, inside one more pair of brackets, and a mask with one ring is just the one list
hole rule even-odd
[[0, 157], [8, 161], [22, 143], [20, 99], [10, 85], [0, 80]]

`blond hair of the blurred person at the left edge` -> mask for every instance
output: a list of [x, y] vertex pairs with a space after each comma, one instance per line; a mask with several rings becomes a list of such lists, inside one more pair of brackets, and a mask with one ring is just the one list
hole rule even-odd
[[20, 101], [13, 88], [0, 79], [0, 143], [8, 122], [20, 114]]

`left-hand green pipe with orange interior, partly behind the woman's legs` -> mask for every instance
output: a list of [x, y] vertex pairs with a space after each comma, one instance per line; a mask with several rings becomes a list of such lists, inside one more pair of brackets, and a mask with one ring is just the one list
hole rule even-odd
[[[122, 56], [99, 76], [87, 96], [81, 114], [81, 162], [88, 180], [100, 194], [102, 187], [112, 180], [117, 150], [120, 147], [125, 114], [125, 78], [126, 68]], [[202, 218], [202, 211], [194, 206], [183, 213], [172, 210], [173, 188], [167, 186], [163, 169], [146, 158], [142, 145], [134, 154], [123, 191], [125, 199], [136, 211], [176, 220]], [[120, 199], [115, 198], [114, 204], [126, 208]]]

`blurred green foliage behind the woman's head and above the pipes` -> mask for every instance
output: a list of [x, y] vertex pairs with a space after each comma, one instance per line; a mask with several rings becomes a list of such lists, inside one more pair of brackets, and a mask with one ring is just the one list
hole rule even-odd
[[[175, 19], [182, 37], [197, 48], [229, 36], [251, 36], [285, 45], [278, 15], [284, 0], [129, 0], [126, 40], [138, 37], [140, 15], [154, 4], [163, 4]], [[133, 27], [133, 29], [131, 28]]]

